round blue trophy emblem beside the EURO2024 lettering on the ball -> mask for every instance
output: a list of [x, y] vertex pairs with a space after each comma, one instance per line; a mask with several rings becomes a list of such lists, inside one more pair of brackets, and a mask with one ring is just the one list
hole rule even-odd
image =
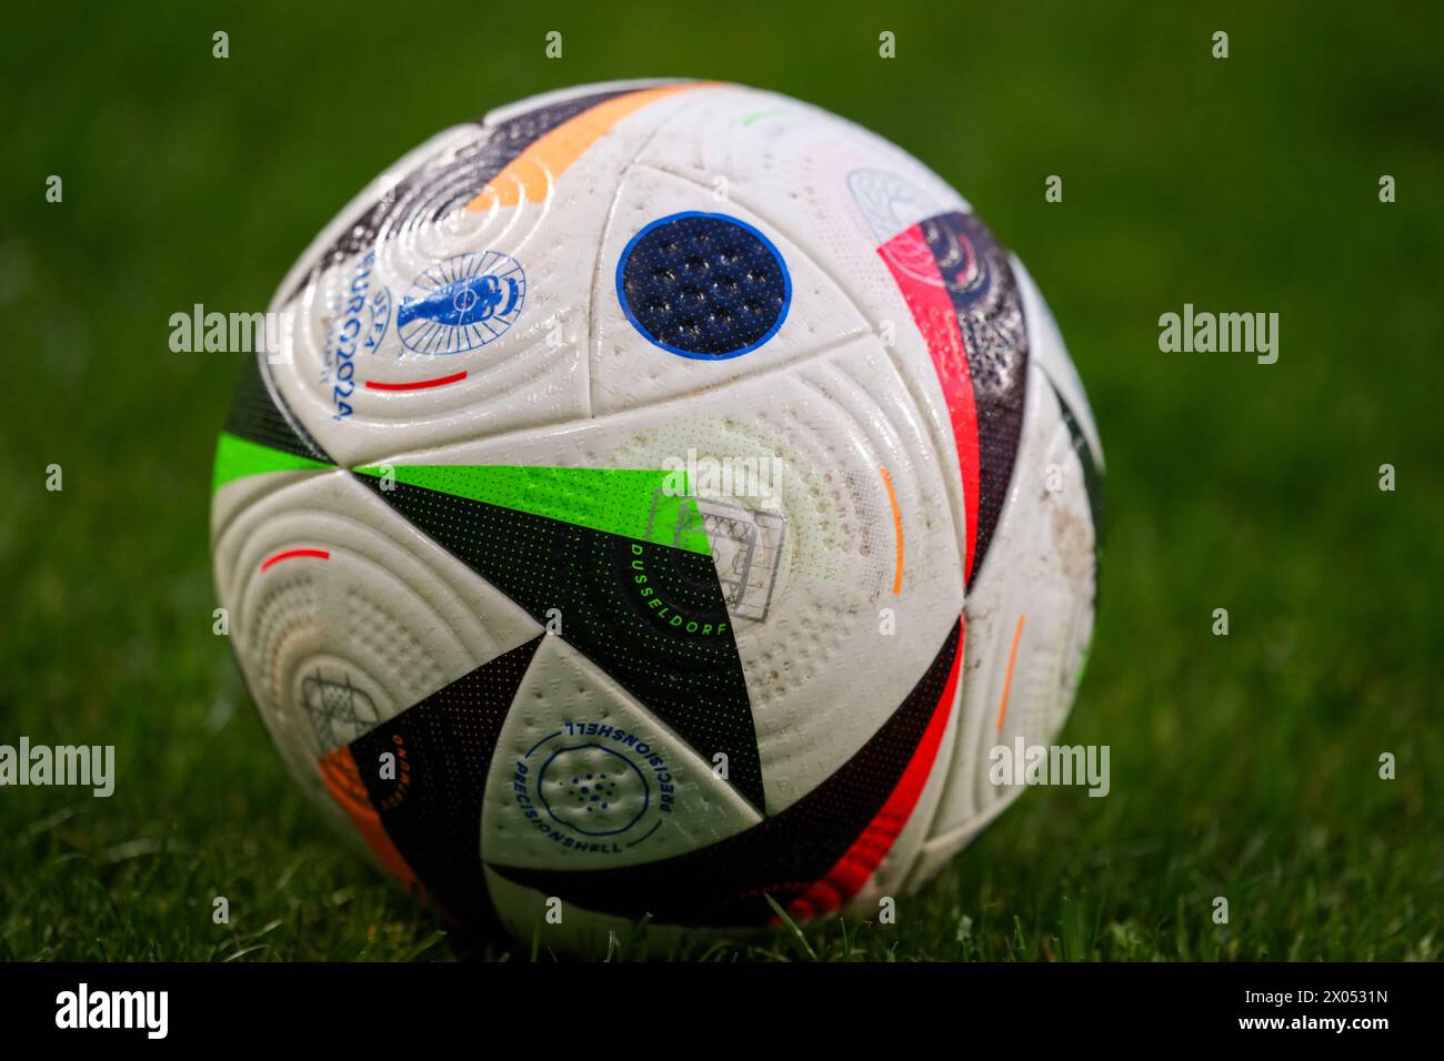
[[396, 333], [417, 354], [465, 354], [511, 328], [527, 297], [521, 264], [500, 251], [443, 258], [396, 307]]

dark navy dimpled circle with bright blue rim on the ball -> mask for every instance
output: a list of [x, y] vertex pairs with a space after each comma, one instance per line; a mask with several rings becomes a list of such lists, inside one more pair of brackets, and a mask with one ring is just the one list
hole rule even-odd
[[755, 228], [689, 211], [631, 238], [617, 263], [617, 297], [648, 342], [721, 361], [773, 338], [787, 319], [793, 281], [777, 247]]

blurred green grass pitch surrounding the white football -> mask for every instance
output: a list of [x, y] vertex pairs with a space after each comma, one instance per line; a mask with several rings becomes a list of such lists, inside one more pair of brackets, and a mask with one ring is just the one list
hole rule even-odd
[[[1444, 12], [827, 7], [7, 14], [0, 743], [114, 743], [118, 785], [0, 790], [0, 959], [533, 953], [448, 933], [286, 775], [211, 632], [209, 462], [237, 357], [170, 352], [168, 320], [263, 307], [432, 131], [640, 75], [774, 88], [930, 163], [1047, 293], [1109, 460], [1064, 739], [1110, 745], [1112, 794], [1025, 794], [897, 925], [705, 954], [1440, 959]], [[1186, 302], [1276, 312], [1278, 362], [1160, 352], [1158, 316]]]

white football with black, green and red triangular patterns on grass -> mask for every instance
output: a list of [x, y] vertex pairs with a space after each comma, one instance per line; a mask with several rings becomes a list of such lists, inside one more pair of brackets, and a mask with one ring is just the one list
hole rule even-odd
[[1018, 794], [991, 749], [1063, 725], [1093, 416], [891, 143], [738, 85], [542, 95], [383, 173], [271, 312], [215, 460], [231, 641], [445, 917], [872, 917]]

